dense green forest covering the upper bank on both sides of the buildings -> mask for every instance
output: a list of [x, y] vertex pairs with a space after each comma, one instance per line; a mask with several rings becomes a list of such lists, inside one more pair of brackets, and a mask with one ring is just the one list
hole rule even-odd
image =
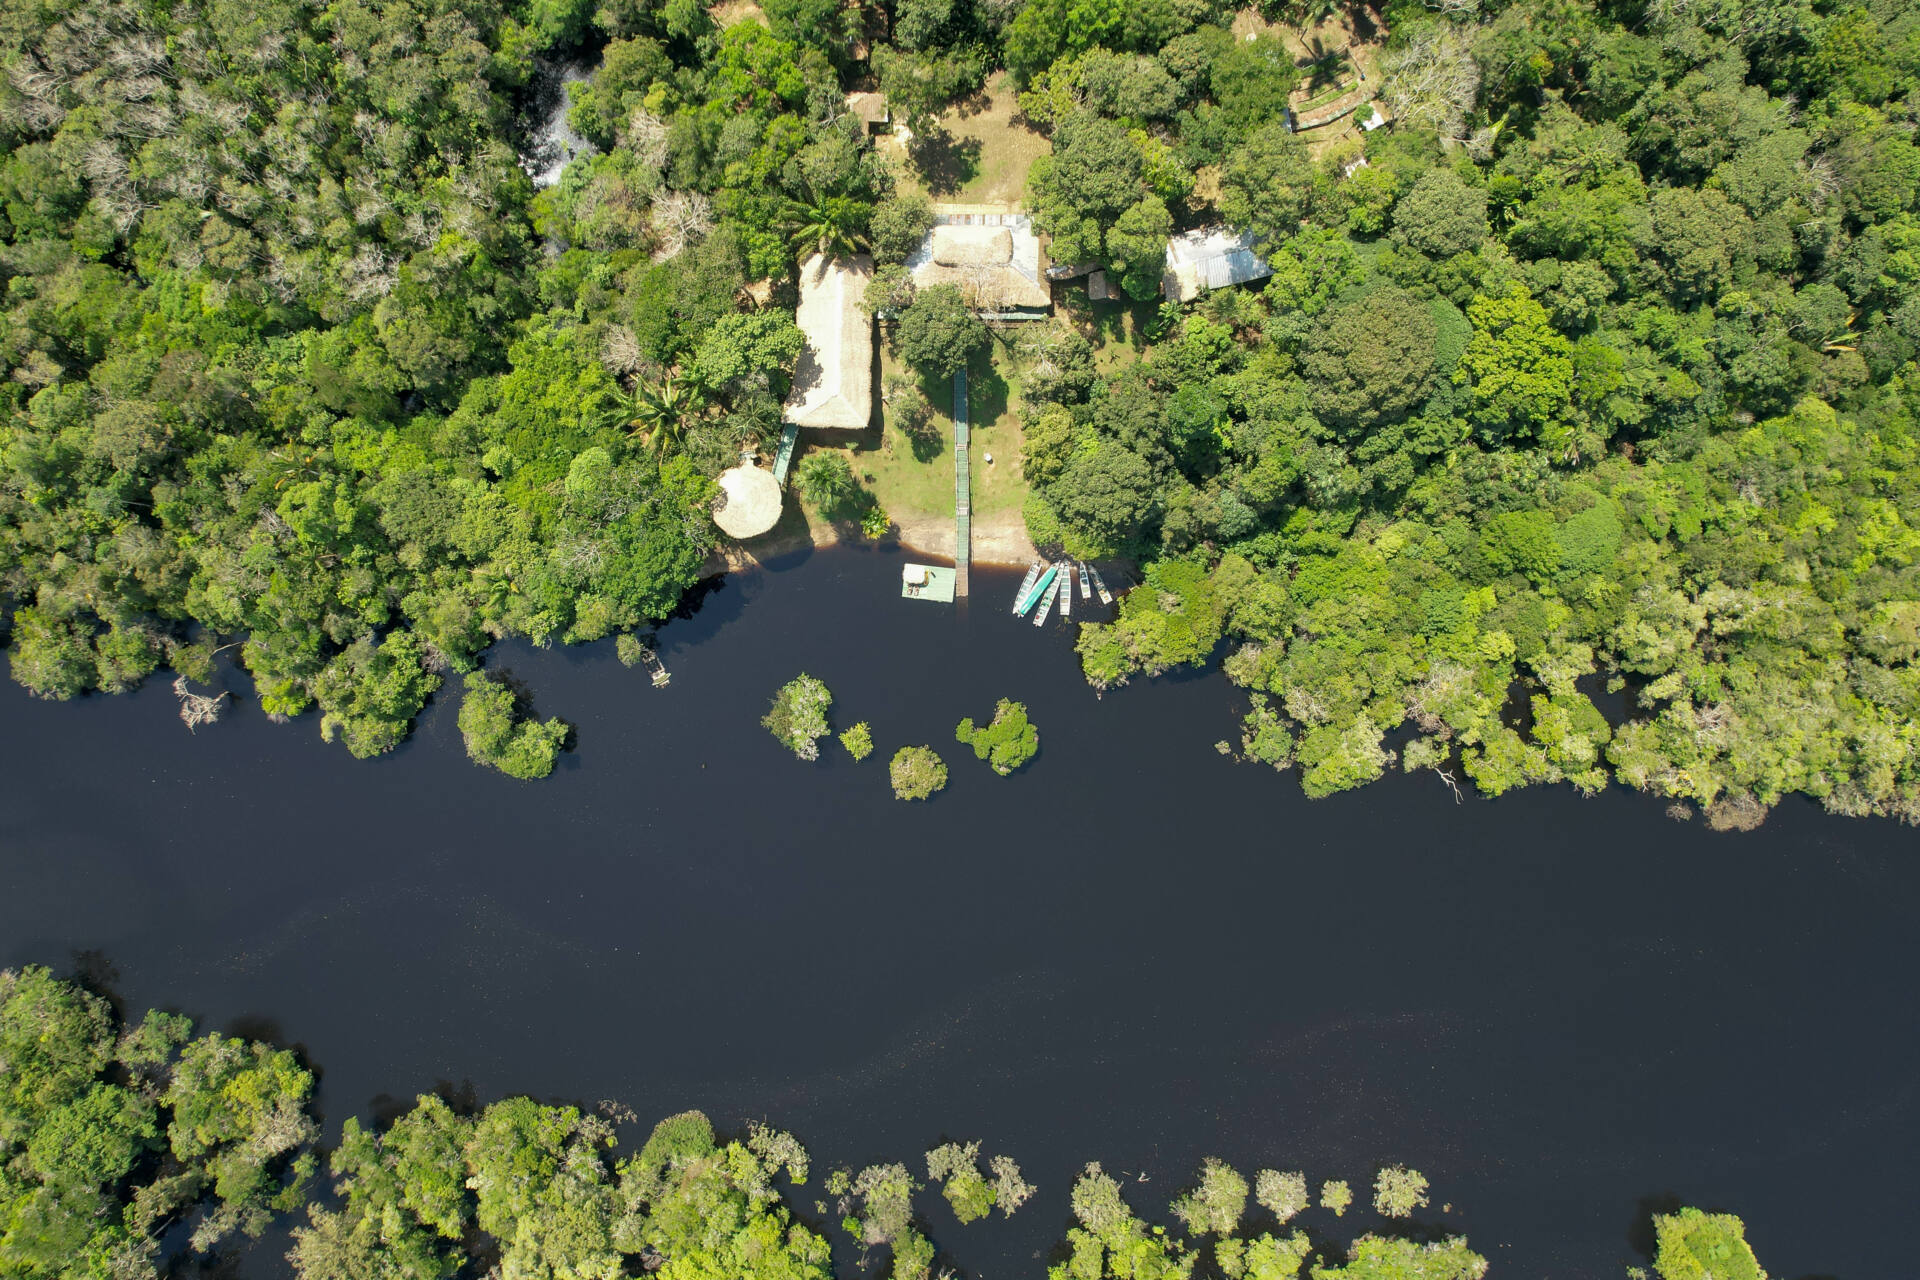
[[[1309, 794], [1398, 760], [1920, 819], [1908, 4], [1392, 0], [1354, 10], [1390, 123], [1336, 142], [1219, 0], [762, 10], [0, 6], [13, 677], [238, 645], [365, 756], [497, 637], [664, 616], [710, 476], [778, 428], [799, 257], [870, 246], [920, 367], [981, 342], [887, 271], [925, 203], [845, 90], [924, 157], [1004, 71], [1056, 261], [1148, 299], [1227, 221], [1273, 265], [1121, 359], [1018, 338], [1029, 530], [1146, 574], [1081, 631], [1096, 685], [1227, 652], [1238, 752]], [[536, 88], [584, 54], [595, 150], [536, 192]], [[465, 689], [476, 760], [551, 768], [564, 725]]]

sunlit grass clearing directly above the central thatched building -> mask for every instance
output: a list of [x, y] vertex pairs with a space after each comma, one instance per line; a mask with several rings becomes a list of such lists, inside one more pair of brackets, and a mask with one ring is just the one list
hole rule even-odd
[[1016, 209], [1027, 192], [1027, 167], [1052, 146], [1044, 134], [1016, 123], [1018, 113], [1014, 83], [998, 71], [983, 92], [948, 107], [939, 132], [904, 146], [887, 136], [879, 150], [893, 157], [902, 190]]

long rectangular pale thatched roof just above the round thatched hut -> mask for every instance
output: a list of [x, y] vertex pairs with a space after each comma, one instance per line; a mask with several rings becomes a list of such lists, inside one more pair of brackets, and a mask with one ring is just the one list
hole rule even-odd
[[806, 334], [793, 370], [787, 422], [849, 432], [866, 430], [874, 415], [874, 319], [860, 309], [874, 259], [866, 253], [801, 263], [801, 309], [793, 319]]

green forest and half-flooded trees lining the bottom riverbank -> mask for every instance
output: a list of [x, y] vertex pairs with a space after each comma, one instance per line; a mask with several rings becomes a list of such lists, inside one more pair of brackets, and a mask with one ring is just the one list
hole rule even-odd
[[[983, 1167], [977, 1142], [925, 1151], [925, 1182], [902, 1163], [816, 1182], [804, 1148], [762, 1125], [730, 1140], [687, 1111], [622, 1153], [616, 1130], [637, 1117], [616, 1103], [507, 1098], [463, 1113], [432, 1094], [384, 1126], [348, 1119], [323, 1188], [311, 1096], [313, 1075], [286, 1050], [194, 1038], [171, 1013], [123, 1027], [106, 1000], [46, 969], [0, 973], [0, 1274], [159, 1276], [280, 1215], [300, 1280], [451, 1280], [488, 1265], [509, 1278], [831, 1280], [835, 1219], [843, 1259], [885, 1249], [891, 1280], [925, 1280], [943, 1247], [929, 1232], [950, 1240], [1037, 1190], [1008, 1155]], [[927, 1184], [945, 1199], [931, 1217], [914, 1203]], [[321, 1190], [324, 1203], [309, 1201]], [[1100, 1165], [1075, 1178], [1069, 1203], [1075, 1224], [1046, 1280], [1488, 1270], [1465, 1240], [1404, 1230], [1428, 1184], [1402, 1167], [1379, 1171], [1379, 1222], [1338, 1249], [1317, 1244], [1332, 1222], [1313, 1221], [1309, 1238], [1302, 1215], [1340, 1221], [1354, 1192], [1325, 1182], [1313, 1211], [1300, 1173], [1248, 1182], [1210, 1159], [1169, 1205], [1177, 1228], [1140, 1219]], [[1661, 1280], [1764, 1280], [1738, 1217], [1680, 1209], [1653, 1228]]]

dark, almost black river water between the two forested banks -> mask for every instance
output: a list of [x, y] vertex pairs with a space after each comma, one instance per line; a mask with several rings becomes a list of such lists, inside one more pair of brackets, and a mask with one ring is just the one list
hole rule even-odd
[[[1413, 1165], [1505, 1276], [1617, 1280], [1674, 1199], [1741, 1213], [1774, 1276], [1910, 1274], [1912, 831], [1430, 775], [1308, 802], [1213, 750], [1217, 672], [1094, 699], [1012, 589], [977, 572], [956, 616], [899, 599], [899, 555], [803, 555], [666, 626], [668, 689], [501, 647], [578, 725], [543, 783], [468, 764], [453, 699], [355, 762], [311, 716], [190, 737], [163, 681], [6, 683], [0, 963], [298, 1044], [328, 1134], [451, 1086], [764, 1117], [816, 1169], [981, 1138], [1041, 1196], [970, 1228], [922, 1197], [975, 1278], [1039, 1280], [1081, 1163], [1167, 1221], [1204, 1155], [1361, 1199]], [[872, 760], [758, 727], [799, 670]], [[1002, 695], [1041, 727], [1012, 779], [952, 741]], [[929, 804], [889, 793], [904, 743], [948, 758]]]

